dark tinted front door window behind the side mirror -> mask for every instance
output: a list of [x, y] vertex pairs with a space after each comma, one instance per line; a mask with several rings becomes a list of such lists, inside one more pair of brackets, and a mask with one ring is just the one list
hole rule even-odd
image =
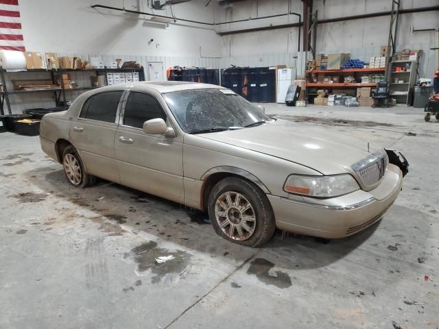
[[131, 92], [125, 106], [123, 124], [142, 128], [145, 121], [156, 118], [166, 121], [166, 115], [158, 101], [150, 95]]

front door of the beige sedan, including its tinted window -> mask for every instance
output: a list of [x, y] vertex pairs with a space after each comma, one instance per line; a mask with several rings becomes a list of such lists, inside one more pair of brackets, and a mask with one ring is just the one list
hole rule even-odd
[[182, 203], [182, 143], [176, 137], [145, 134], [143, 123], [156, 118], [170, 125], [158, 97], [130, 91], [115, 138], [121, 184]]

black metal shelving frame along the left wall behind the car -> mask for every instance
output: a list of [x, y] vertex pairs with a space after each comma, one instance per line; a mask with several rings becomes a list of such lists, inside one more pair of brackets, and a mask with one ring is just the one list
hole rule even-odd
[[64, 88], [64, 86], [60, 86], [60, 88], [48, 88], [48, 89], [36, 89], [36, 90], [8, 90], [8, 86], [6, 84], [5, 73], [49, 73], [51, 77], [51, 81], [53, 84], [56, 84], [56, 80], [58, 79], [58, 74], [67, 73], [67, 72], [91, 72], [96, 75], [104, 75], [105, 83], [107, 84], [106, 73], [129, 73], [129, 72], [138, 72], [139, 73], [139, 81], [145, 81], [145, 71], [143, 71], [143, 66], [139, 69], [59, 69], [59, 70], [44, 70], [44, 69], [29, 69], [23, 71], [7, 71], [0, 66], [0, 78], [1, 83], [3, 84], [3, 90], [0, 91], [0, 114], [12, 114], [9, 95], [22, 95], [22, 94], [31, 94], [31, 93], [54, 93], [54, 101], [56, 106], [60, 106], [61, 102], [65, 105], [66, 101], [66, 91], [86, 91], [99, 87], [78, 87], [78, 88]]

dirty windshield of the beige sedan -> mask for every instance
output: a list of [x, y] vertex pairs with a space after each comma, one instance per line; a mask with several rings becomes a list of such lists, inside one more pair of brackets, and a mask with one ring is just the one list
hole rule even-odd
[[183, 90], [163, 95], [189, 134], [239, 129], [272, 121], [257, 106], [228, 89]]

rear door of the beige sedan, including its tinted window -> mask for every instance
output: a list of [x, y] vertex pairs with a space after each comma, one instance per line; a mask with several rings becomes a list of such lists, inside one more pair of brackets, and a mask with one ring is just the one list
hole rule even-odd
[[119, 182], [115, 134], [123, 93], [125, 90], [115, 90], [89, 97], [70, 131], [86, 171], [112, 182]]

